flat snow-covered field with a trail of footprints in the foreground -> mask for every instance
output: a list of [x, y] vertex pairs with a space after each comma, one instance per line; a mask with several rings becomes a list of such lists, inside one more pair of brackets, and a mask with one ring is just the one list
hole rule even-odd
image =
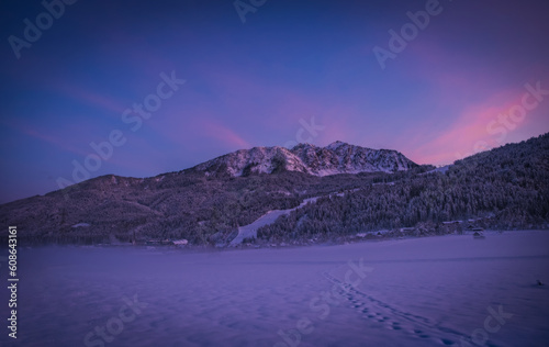
[[[16, 346], [475, 346], [471, 335], [485, 346], [549, 344], [549, 232], [19, 256]], [[4, 327], [0, 345], [7, 336]]]

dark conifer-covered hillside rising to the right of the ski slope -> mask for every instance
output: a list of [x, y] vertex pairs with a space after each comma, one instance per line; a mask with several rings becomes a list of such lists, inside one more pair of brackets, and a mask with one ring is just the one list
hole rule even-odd
[[[541, 227], [549, 221], [549, 135], [458, 160], [446, 172], [407, 175], [283, 216], [264, 239], [307, 239], [484, 217], [486, 227]], [[438, 225], [437, 225], [438, 224]]]

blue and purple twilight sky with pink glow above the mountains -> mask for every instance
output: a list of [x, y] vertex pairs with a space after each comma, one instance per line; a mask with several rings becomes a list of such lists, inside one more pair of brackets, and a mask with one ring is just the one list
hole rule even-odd
[[335, 141], [446, 165], [549, 131], [545, 0], [5, 0], [0, 203]]

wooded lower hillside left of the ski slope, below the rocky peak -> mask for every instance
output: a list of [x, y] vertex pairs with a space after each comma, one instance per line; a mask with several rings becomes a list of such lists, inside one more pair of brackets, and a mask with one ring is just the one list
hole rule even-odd
[[18, 225], [20, 238], [32, 243], [186, 238], [206, 244], [211, 235], [228, 237], [238, 225], [249, 224], [270, 210], [295, 208], [309, 197], [402, 175], [321, 178], [281, 171], [231, 177], [193, 170], [145, 179], [109, 175], [0, 205], [0, 222]]

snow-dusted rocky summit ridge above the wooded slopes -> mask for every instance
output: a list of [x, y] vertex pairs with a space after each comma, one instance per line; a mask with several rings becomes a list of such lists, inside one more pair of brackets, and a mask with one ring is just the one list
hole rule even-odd
[[283, 147], [254, 147], [240, 149], [202, 163], [193, 169], [231, 176], [273, 174], [281, 170], [300, 171], [314, 176], [359, 172], [395, 172], [417, 166], [403, 154], [390, 149], [370, 149], [335, 142], [326, 147], [299, 144]]

